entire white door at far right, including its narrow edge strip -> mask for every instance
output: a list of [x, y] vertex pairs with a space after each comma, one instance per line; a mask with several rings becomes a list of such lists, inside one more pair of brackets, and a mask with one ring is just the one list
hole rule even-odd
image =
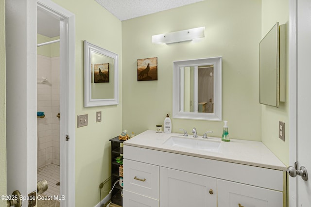
[[[290, 0], [290, 165], [311, 172], [311, 0]], [[295, 46], [296, 45], [296, 46]], [[295, 58], [296, 57], [296, 58]], [[311, 207], [311, 178], [290, 177], [290, 207]]]

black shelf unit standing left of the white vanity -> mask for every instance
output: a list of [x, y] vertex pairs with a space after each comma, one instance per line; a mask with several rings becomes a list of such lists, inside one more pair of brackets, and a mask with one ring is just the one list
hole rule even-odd
[[[119, 167], [121, 166], [121, 164], [116, 162], [115, 158], [119, 157], [120, 155], [123, 156], [123, 147], [121, 146], [121, 143], [123, 143], [124, 140], [119, 140], [118, 136], [110, 139], [109, 141], [111, 142], [111, 188], [112, 188], [115, 182], [119, 180], [121, 177], [119, 174]], [[119, 183], [117, 183], [111, 192], [112, 203], [117, 204], [119, 206], [122, 206], [121, 191], [122, 187], [119, 185]]]

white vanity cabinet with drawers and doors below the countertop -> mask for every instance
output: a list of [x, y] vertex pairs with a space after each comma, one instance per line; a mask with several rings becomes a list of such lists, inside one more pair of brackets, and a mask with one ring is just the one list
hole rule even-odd
[[286, 207], [283, 170], [128, 145], [123, 156], [123, 207]]

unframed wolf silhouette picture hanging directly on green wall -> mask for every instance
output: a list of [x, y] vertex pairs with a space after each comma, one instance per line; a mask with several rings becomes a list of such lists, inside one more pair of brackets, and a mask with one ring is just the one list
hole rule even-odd
[[157, 57], [137, 60], [137, 80], [157, 80]]

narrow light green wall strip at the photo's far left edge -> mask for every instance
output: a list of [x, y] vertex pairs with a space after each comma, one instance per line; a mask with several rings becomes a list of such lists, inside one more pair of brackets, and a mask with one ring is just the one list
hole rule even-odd
[[0, 195], [6, 195], [5, 0], [0, 0], [0, 28]]

